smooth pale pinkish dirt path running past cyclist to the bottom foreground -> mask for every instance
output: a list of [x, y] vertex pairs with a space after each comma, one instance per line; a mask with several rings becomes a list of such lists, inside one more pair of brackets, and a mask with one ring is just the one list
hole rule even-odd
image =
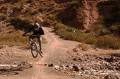
[[[47, 39], [47, 43], [42, 46], [44, 57], [37, 59], [30, 57], [31, 60], [35, 60], [29, 61], [33, 65], [33, 68], [26, 69], [18, 75], [0, 75], [0, 79], [73, 79], [72, 77], [52, 71], [52, 69], [45, 67], [44, 64], [61, 64], [59, 61], [64, 62], [64, 60], [67, 60], [65, 59], [67, 55], [66, 51], [74, 47], [77, 43], [61, 40], [51, 32], [50, 28], [44, 28], [44, 30], [44, 38]], [[31, 56], [28, 50], [20, 50], [17, 53], [21, 52], [27, 52], [25, 55]]]

